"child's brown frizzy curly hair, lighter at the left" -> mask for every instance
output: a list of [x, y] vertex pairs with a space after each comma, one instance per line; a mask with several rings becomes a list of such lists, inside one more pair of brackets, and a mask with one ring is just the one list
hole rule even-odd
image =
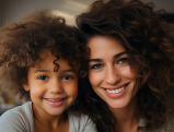
[[66, 24], [61, 16], [54, 16], [49, 10], [27, 15], [19, 23], [4, 26], [0, 31], [0, 84], [1, 89], [19, 94], [30, 100], [30, 92], [22, 82], [27, 81], [27, 70], [40, 59], [42, 49], [50, 49], [68, 60], [69, 64], [83, 77], [85, 75], [85, 46], [79, 43], [77, 27]]

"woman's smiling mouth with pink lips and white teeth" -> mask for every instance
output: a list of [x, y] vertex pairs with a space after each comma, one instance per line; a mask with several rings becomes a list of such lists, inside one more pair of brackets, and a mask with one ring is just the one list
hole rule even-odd
[[118, 98], [126, 93], [128, 86], [129, 86], [129, 83], [120, 86], [119, 88], [104, 88], [103, 87], [103, 91], [106, 93], [106, 95], [108, 97]]

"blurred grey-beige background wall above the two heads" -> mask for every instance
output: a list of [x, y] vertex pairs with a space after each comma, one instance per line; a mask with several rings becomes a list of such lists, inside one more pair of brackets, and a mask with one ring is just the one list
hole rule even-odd
[[[63, 15], [69, 24], [74, 25], [74, 16], [84, 12], [93, 1], [95, 0], [0, 0], [0, 27], [42, 9], [51, 9], [55, 14]], [[174, 14], [174, 0], [142, 1], [153, 2], [154, 10], [165, 9], [167, 13]]]

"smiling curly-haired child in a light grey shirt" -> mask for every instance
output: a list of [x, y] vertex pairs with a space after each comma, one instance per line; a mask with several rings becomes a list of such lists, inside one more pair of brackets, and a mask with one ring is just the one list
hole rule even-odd
[[96, 132], [89, 117], [68, 109], [85, 68], [77, 28], [42, 11], [0, 35], [1, 88], [32, 100], [4, 112], [0, 132]]

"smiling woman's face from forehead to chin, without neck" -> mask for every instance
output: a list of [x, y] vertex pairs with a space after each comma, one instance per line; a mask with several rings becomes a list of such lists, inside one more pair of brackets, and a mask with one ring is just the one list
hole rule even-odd
[[120, 41], [94, 36], [88, 43], [89, 80], [94, 92], [112, 108], [124, 108], [135, 97], [140, 81], [130, 70], [129, 57]]

